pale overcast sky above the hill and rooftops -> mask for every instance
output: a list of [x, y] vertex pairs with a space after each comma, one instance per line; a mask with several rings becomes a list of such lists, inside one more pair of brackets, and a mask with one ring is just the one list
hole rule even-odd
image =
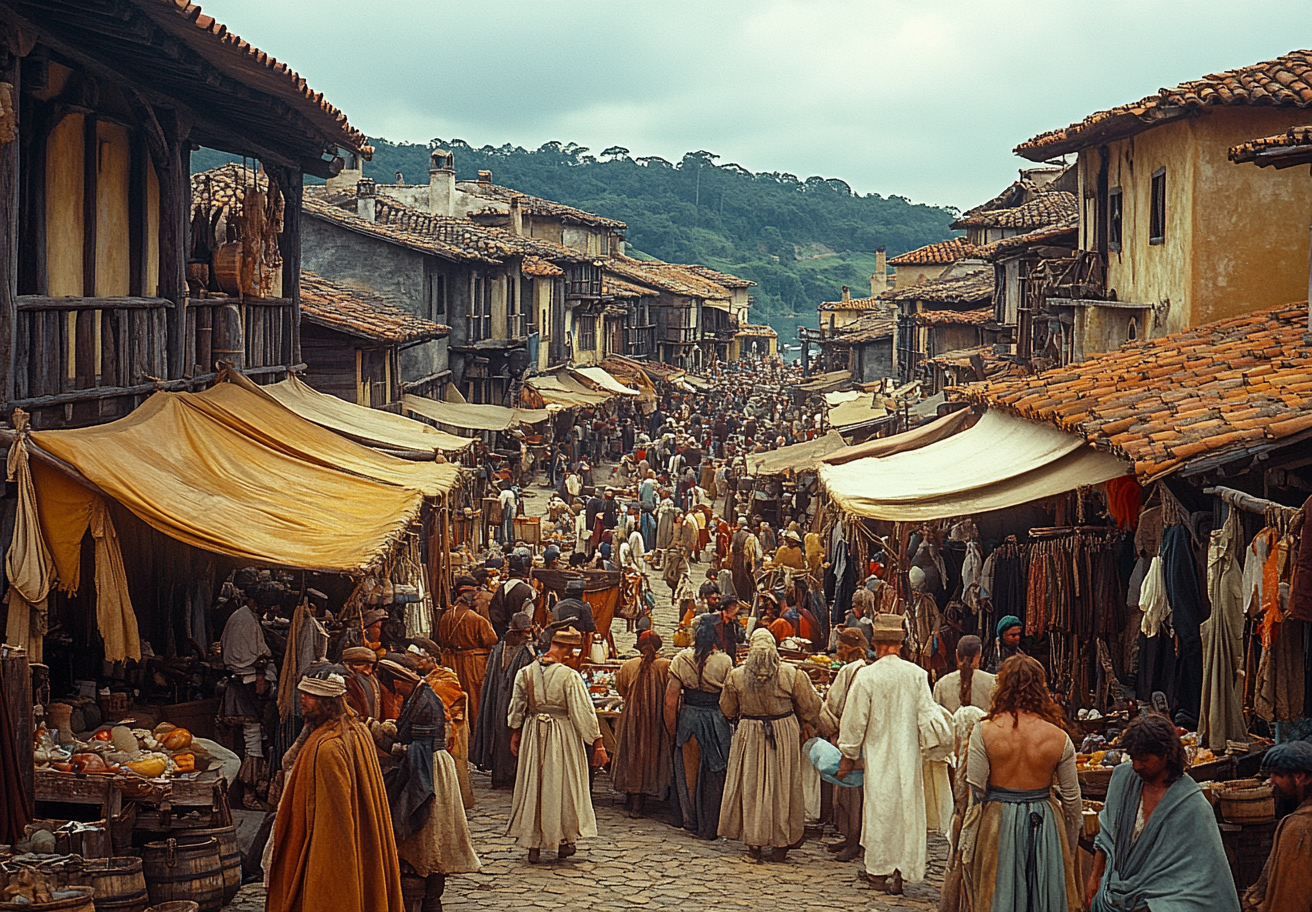
[[1305, 4], [1216, 0], [210, 0], [370, 135], [840, 177], [962, 209], [1012, 148], [1312, 42]]

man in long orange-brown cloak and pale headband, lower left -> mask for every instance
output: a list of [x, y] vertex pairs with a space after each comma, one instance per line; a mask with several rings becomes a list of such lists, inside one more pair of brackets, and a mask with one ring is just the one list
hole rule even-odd
[[346, 707], [341, 668], [320, 669], [297, 685], [308, 734], [278, 802], [265, 908], [404, 908], [378, 751]]

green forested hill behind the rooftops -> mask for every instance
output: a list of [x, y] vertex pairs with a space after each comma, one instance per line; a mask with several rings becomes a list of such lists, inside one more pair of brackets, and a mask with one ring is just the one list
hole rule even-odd
[[[773, 325], [781, 341], [794, 341], [799, 324], [815, 325], [816, 304], [836, 299], [841, 286], [867, 295], [876, 247], [892, 257], [954, 234], [951, 209], [861, 196], [837, 178], [752, 173], [706, 151], [666, 161], [634, 159], [618, 146], [593, 155], [558, 142], [533, 151], [475, 148], [462, 139], [370, 142], [375, 151], [365, 175], [380, 184], [394, 182], [398, 171], [409, 184], [425, 182], [429, 148], [440, 144], [455, 154], [461, 180], [491, 171], [502, 186], [626, 222], [631, 253], [750, 278], [760, 286], [752, 320]], [[192, 165], [201, 171], [230, 157], [202, 150]]]

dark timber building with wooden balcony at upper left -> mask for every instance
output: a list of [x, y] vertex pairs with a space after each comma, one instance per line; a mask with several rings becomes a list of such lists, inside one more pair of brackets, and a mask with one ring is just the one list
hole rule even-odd
[[[0, 38], [5, 413], [96, 424], [155, 388], [206, 382], [218, 360], [268, 379], [298, 365], [303, 175], [367, 156], [365, 136], [186, 3], [0, 0]], [[198, 146], [268, 176], [236, 293], [205, 301], [188, 290], [193, 273], [209, 283], [216, 255], [195, 249], [189, 224]]]

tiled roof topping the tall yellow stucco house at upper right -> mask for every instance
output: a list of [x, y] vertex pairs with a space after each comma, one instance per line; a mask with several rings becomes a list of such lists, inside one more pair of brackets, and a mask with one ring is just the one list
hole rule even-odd
[[1017, 146], [1015, 154], [1042, 161], [1189, 117], [1211, 105], [1312, 106], [1312, 51], [1291, 51], [1274, 60], [1158, 89], [1157, 94], [1134, 104], [1089, 114], [1063, 130], [1040, 134]]

